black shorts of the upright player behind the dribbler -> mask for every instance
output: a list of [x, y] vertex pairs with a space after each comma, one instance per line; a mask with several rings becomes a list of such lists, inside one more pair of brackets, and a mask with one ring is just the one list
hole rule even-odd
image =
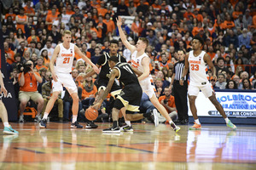
[[[105, 90], [108, 86], [108, 80], [106, 79], [98, 79], [95, 82], [96, 88], [98, 89], [98, 91], [100, 91], [101, 89]], [[119, 94], [121, 92], [121, 88], [119, 87], [119, 85], [116, 82], [113, 82], [113, 86], [110, 89], [110, 94], [112, 94], [113, 96]]]

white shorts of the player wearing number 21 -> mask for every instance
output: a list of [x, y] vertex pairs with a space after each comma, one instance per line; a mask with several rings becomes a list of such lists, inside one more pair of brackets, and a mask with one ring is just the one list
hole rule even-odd
[[78, 93], [76, 83], [73, 81], [73, 77], [69, 73], [56, 73], [58, 82], [52, 80], [52, 91], [62, 92], [63, 87], [67, 88], [69, 94]]

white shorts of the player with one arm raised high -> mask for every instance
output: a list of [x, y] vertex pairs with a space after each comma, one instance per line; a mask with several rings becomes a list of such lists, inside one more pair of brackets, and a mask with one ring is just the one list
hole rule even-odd
[[155, 95], [154, 82], [152, 77], [147, 77], [143, 81], [140, 81], [140, 85], [143, 88], [143, 92], [151, 99]]

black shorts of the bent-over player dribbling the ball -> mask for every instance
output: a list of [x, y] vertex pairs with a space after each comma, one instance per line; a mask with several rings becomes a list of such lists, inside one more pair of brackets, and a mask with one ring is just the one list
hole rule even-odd
[[139, 84], [126, 85], [114, 101], [113, 107], [120, 110], [126, 106], [126, 111], [139, 111], [142, 97], [143, 89]]

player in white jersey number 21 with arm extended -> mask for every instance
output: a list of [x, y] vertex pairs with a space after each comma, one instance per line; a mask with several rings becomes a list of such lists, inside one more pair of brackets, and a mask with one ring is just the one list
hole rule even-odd
[[71, 43], [71, 31], [64, 31], [62, 39], [63, 42], [56, 46], [54, 54], [52, 55], [52, 58], [49, 62], [49, 68], [53, 78], [53, 94], [50, 97], [48, 104], [46, 105], [44, 117], [39, 123], [39, 127], [46, 127], [47, 116], [49, 115], [49, 112], [51, 111], [55, 100], [58, 98], [58, 95], [61, 93], [62, 86], [64, 86], [65, 88], [67, 88], [68, 93], [73, 99], [73, 120], [71, 127], [83, 128], [83, 126], [79, 125], [79, 122], [77, 122], [79, 111], [78, 89], [75, 82], [73, 81], [73, 77], [70, 74], [70, 72], [72, 71], [74, 54], [79, 54], [79, 56], [81, 56], [85, 62], [89, 63], [89, 65], [93, 67], [93, 70], [96, 71], [96, 73], [99, 73], [99, 69], [90, 61], [90, 59], [82, 54], [82, 52], [76, 45]]

